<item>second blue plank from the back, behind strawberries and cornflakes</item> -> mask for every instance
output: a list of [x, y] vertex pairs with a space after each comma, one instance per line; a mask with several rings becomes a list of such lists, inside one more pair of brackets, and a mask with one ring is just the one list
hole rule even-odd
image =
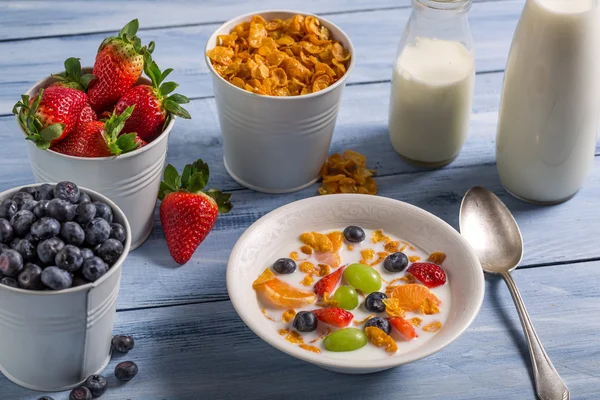
[[[479, 72], [504, 69], [521, 8], [520, 1], [473, 5], [470, 20]], [[356, 68], [349, 77], [350, 84], [390, 79], [396, 48], [409, 15], [410, 9], [405, 8], [329, 16], [348, 33], [356, 48]], [[141, 33], [141, 37], [145, 42], [156, 42], [154, 58], [159, 66], [175, 69], [169, 78], [181, 85], [180, 93], [189, 97], [207, 97], [213, 95], [213, 90], [212, 77], [204, 61], [204, 45], [216, 27], [212, 24], [150, 30]], [[0, 115], [10, 113], [20, 94], [35, 82], [62, 71], [66, 58], [79, 57], [83, 65], [92, 65], [98, 45], [105, 36], [0, 43], [0, 69], [3, 71], [0, 75]]]

